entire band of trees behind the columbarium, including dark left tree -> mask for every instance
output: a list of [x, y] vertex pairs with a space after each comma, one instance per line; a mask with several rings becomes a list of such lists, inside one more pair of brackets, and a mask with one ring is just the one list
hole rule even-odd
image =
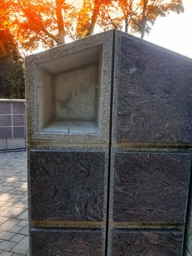
[[0, 97], [24, 98], [18, 49], [50, 48], [114, 28], [143, 38], [159, 16], [183, 11], [182, 0], [1, 0]]

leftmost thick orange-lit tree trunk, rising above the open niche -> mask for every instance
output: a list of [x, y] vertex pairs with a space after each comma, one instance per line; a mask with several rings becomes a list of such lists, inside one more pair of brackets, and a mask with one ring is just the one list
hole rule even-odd
[[64, 3], [64, 0], [55, 0], [56, 16], [57, 16], [57, 23], [58, 23], [58, 45], [64, 44], [65, 42], [64, 18], [62, 14], [63, 3]]

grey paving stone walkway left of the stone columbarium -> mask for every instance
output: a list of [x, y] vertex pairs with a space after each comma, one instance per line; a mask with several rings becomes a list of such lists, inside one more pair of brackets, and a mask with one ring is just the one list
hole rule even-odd
[[0, 256], [28, 255], [26, 151], [0, 152]]

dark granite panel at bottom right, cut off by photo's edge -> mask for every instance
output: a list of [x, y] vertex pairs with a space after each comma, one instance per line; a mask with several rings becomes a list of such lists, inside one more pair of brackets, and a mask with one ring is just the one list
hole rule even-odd
[[177, 230], [116, 230], [112, 256], [182, 256], [183, 233]]

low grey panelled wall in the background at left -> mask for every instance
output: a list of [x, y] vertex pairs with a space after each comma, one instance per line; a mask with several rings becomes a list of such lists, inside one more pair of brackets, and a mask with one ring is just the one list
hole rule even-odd
[[26, 148], [26, 100], [0, 99], [0, 150]]

